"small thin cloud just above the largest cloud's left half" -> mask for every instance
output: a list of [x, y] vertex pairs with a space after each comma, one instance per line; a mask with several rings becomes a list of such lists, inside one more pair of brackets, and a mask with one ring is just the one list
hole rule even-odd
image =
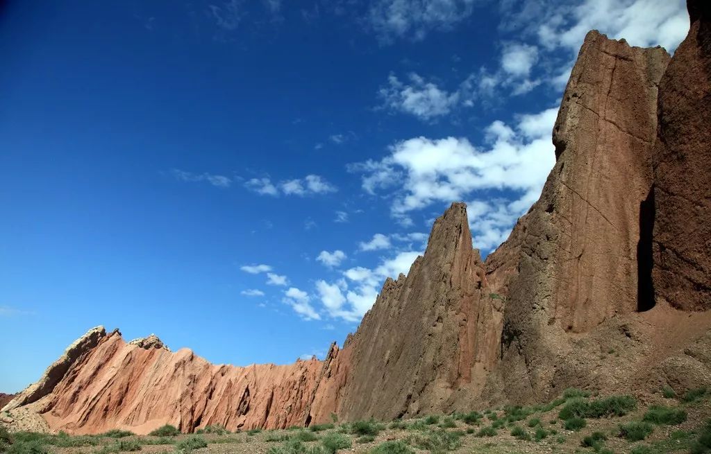
[[410, 74], [410, 83], [404, 84], [395, 75], [387, 78], [388, 85], [378, 92], [385, 107], [394, 111], [414, 115], [421, 120], [449, 114], [459, 102], [459, 93], [449, 93], [422, 77]]

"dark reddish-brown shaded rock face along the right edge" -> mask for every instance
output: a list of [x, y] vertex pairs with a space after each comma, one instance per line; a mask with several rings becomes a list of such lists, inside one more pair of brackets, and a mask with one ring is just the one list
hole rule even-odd
[[689, 34], [661, 80], [654, 155], [654, 291], [693, 311], [711, 309], [710, 10], [689, 2]]

